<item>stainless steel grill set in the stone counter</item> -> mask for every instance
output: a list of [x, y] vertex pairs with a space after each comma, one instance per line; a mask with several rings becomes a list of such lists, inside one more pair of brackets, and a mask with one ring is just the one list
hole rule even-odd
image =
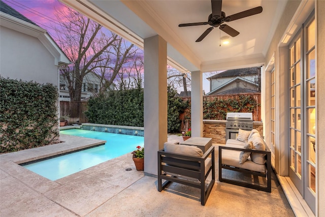
[[236, 139], [239, 129], [253, 129], [253, 114], [248, 112], [228, 112], [225, 128], [226, 139]]

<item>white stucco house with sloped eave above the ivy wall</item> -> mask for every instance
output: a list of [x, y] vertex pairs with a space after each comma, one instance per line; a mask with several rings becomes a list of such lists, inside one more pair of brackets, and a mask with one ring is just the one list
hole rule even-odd
[[45, 29], [1, 1], [2, 77], [58, 85], [59, 67], [70, 64]]

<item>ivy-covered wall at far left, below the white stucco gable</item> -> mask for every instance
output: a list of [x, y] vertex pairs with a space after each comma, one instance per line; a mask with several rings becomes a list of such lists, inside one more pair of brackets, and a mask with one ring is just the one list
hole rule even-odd
[[56, 86], [0, 77], [0, 96], [1, 153], [58, 139]]

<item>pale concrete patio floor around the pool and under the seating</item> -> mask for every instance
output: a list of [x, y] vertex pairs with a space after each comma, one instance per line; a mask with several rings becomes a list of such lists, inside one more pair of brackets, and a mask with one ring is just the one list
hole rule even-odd
[[17, 164], [102, 142], [60, 136], [59, 144], [0, 155], [0, 216], [294, 216], [274, 174], [272, 193], [216, 181], [201, 206], [198, 189], [172, 183], [158, 192], [131, 153], [55, 181]]

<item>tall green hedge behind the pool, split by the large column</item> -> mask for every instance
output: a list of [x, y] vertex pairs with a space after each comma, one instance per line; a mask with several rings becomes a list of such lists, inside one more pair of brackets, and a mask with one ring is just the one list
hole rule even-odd
[[[168, 88], [168, 132], [180, 132], [179, 115], [188, 107], [176, 90]], [[91, 123], [143, 127], [143, 89], [110, 91], [108, 96], [91, 98], [87, 104], [86, 117]]]

